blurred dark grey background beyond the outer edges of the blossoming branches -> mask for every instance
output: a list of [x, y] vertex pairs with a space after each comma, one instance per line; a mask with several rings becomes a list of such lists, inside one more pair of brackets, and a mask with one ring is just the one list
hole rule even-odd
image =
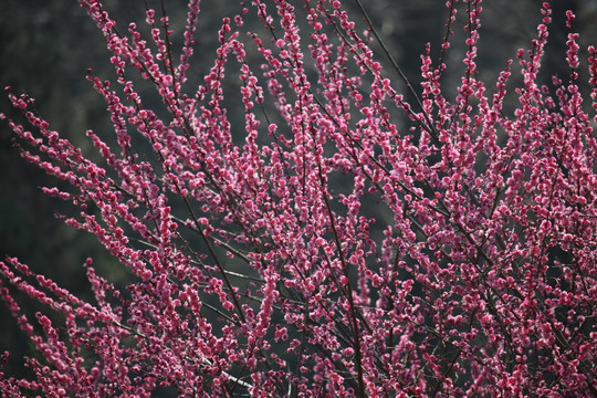
[[[151, 1], [149, 3], [153, 4]], [[350, 0], [346, 3], [353, 7]], [[425, 44], [431, 42], [434, 45], [432, 53], [437, 54], [444, 35], [444, 1], [375, 0], [364, 1], [364, 4], [407, 76], [412, 83], [418, 82], [419, 54]], [[121, 27], [144, 18], [143, 0], [109, 0], [105, 6]], [[186, 19], [185, 1], [167, 1], [166, 6], [172, 27], [179, 33]], [[515, 50], [534, 36], [541, 19], [541, 1], [500, 0], [486, 1], [483, 6], [478, 63], [481, 77], [491, 90], [505, 60], [514, 57]], [[597, 44], [597, 1], [556, 0], [543, 76], [566, 76], [566, 9], [573, 9], [578, 17], [575, 29], [582, 33], [583, 46]], [[209, 51], [213, 49], [221, 18], [235, 14], [239, 7], [234, 0], [211, 0], [202, 3], [202, 10], [197, 33], [199, 51], [190, 72], [190, 76], [197, 80], [211, 66], [213, 56]], [[13, 93], [27, 93], [36, 98], [40, 116], [84, 151], [90, 149], [84, 134], [86, 129], [93, 128], [102, 136], [109, 136], [112, 127], [105, 105], [85, 80], [88, 67], [103, 78], [114, 77], [109, 54], [102, 33], [77, 2], [0, 0], [0, 86], [10, 85]], [[459, 20], [463, 17], [464, 13], [459, 12]], [[450, 62], [460, 67], [463, 55], [454, 40]], [[201, 57], [209, 63], [201, 63]], [[459, 71], [455, 69], [451, 76], [452, 86], [458, 82]], [[0, 112], [22, 121], [3, 93], [0, 95]], [[13, 147], [12, 132], [6, 123], [0, 123], [0, 256], [18, 256], [33, 270], [87, 297], [88, 284], [81, 266], [87, 256], [94, 258], [101, 273], [125, 280], [126, 275], [93, 237], [56, 220], [56, 213], [69, 214], [75, 209], [41, 192], [40, 187], [55, 184], [20, 158]], [[33, 303], [23, 300], [21, 303], [30, 313], [38, 310]], [[6, 306], [0, 304], [0, 352], [6, 349], [11, 352], [12, 358], [6, 371], [21, 373], [20, 358], [30, 348]]]

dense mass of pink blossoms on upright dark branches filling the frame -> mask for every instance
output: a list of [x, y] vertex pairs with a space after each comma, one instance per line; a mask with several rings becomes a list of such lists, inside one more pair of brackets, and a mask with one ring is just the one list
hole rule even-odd
[[572, 12], [568, 75], [540, 84], [546, 2], [486, 84], [481, 1], [448, 1], [419, 85], [364, 9], [253, 0], [192, 86], [199, 0], [181, 32], [164, 8], [122, 27], [80, 3], [112, 54], [114, 81], [88, 81], [115, 136], [88, 130], [84, 154], [10, 90], [29, 125], [2, 118], [132, 280], [90, 259], [87, 301], [6, 258], [0, 295], [39, 355], [3, 396], [597, 396], [597, 56]]

